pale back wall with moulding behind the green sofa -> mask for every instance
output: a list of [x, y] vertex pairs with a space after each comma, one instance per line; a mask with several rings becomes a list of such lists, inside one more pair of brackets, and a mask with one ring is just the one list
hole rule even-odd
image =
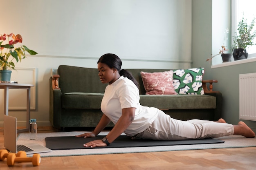
[[[191, 67], [191, 3], [1, 0], [0, 33], [19, 33], [22, 44], [38, 52], [16, 64], [36, 68], [36, 109], [31, 117], [39, 126], [49, 126], [49, 77], [51, 68], [61, 64], [97, 68], [101, 55], [115, 53], [123, 60], [123, 68]], [[10, 110], [9, 115], [24, 124], [25, 110]], [[0, 114], [0, 126], [2, 120]]]

